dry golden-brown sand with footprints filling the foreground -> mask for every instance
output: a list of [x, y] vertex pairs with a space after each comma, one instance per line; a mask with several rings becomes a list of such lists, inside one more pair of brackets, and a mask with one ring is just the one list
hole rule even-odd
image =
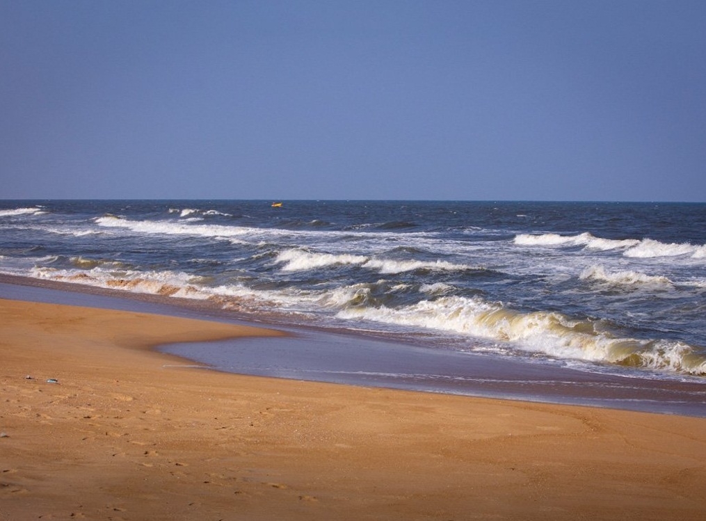
[[267, 334], [0, 300], [0, 519], [704, 518], [706, 419], [235, 376], [150, 350]]

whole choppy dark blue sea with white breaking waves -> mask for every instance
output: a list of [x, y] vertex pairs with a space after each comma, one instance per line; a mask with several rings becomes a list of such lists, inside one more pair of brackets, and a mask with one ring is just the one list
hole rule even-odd
[[2, 201], [0, 272], [644, 378], [706, 376], [706, 205]]

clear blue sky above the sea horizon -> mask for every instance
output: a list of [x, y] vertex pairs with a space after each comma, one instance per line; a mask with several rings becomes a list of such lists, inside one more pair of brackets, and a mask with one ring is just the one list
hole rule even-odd
[[0, 199], [706, 201], [706, 2], [0, 0]]

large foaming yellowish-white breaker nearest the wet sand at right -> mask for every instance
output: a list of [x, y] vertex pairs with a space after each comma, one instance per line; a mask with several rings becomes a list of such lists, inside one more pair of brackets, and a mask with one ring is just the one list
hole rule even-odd
[[509, 342], [516, 349], [559, 359], [706, 374], [706, 357], [683, 342], [616, 337], [600, 321], [573, 320], [556, 312], [520, 313], [477, 298], [441, 297], [398, 309], [347, 306], [337, 316]]

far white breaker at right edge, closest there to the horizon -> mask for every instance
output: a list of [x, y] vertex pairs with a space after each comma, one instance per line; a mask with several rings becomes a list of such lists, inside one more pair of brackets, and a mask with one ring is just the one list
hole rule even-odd
[[519, 246], [584, 246], [599, 251], [624, 248], [623, 256], [637, 258], [676, 256], [706, 258], [706, 245], [663, 243], [654, 239], [602, 239], [589, 232], [578, 235], [518, 234], [513, 242]]

